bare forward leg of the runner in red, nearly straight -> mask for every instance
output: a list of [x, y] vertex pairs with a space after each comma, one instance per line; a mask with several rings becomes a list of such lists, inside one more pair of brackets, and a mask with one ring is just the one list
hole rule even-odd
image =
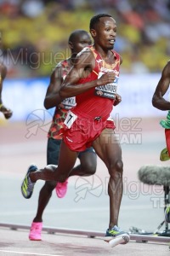
[[105, 129], [93, 143], [99, 158], [105, 162], [110, 180], [108, 194], [110, 196], [110, 224], [109, 229], [118, 223], [119, 209], [122, 201], [122, 149], [116, 139], [114, 131]]

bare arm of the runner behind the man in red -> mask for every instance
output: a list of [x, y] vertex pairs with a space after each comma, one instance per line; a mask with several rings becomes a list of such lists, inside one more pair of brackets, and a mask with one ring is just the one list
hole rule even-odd
[[54, 72], [51, 74], [50, 83], [44, 99], [44, 107], [54, 108], [62, 102], [63, 98], [59, 96], [59, 89], [63, 82], [62, 67], [61, 65], [55, 67]]

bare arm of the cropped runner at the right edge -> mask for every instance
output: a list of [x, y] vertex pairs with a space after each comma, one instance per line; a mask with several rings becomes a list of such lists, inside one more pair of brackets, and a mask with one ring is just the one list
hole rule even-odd
[[152, 97], [152, 105], [160, 110], [170, 110], [170, 102], [167, 102], [163, 96], [167, 92], [170, 84], [170, 61], [163, 68], [161, 79], [159, 80], [156, 91]]

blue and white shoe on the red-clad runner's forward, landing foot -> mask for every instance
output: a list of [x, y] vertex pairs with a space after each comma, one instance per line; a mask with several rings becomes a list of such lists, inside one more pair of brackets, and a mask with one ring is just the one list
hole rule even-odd
[[126, 244], [129, 239], [130, 236], [128, 235], [127, 232], [122, 231], [120, 228], [118, 228], [116, 225], [111, 229], [111, 230], [106, 230], [106, 234], [105, 234], [105, 241], [111, 241], [114, 238], [117, 237], [122, 237], [123, 238], [123, 242], [121, 244]]

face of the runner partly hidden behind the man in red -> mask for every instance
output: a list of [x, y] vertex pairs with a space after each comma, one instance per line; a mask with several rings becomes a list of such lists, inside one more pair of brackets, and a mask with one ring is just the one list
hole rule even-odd
[[88, 32], [81, 33], [80, 35], [77, 35], [77, 37], [74, 40], [74, 43], [72, 43], [73, 52], [79, 53], [84, 47], [87, 47], [90, 44], [92, 44], [92, 40], [88, 35]]

